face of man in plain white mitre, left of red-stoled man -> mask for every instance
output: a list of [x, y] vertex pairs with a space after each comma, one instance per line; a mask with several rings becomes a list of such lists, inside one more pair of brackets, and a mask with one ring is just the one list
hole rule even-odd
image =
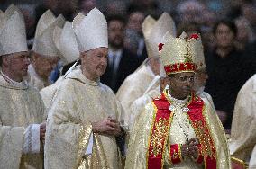
[[81, 69], [87, 79], [96, 81], [105, 73], [107, 48], [96, 48], [80, 53]]

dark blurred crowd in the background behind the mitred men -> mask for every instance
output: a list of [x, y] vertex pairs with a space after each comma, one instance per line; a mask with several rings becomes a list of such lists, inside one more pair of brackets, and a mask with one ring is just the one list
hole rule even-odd
[[[182, 31], [188, 36], [194, 32], [202, 36], [208, 74], [206, 92], [212, 95], [227, 132], [231, 128], [236, 95], [256, 72], [256, 2], [253, 0], [1, 0], [0, 10], [5, 11], [12, 3], [23, 11], [30, 48], [37, 22], [47, 9], [72, 21], [79, 12], [87, 14], [94, 7], [99, 8], [108, 21], [110, 51], [126, 51], [125, 57], [118, 61], [109, 60], [115, 64], [114, 68], [107, 68], [101, 78], [114, 93], [125, 77], [147, 58], [142, 34], [144, 18], [149, 14], [159, 18], [161, 13], [168, 12], [175, 20], [177, 36]], [[53, 73], [51, 80], [55, 79]]]

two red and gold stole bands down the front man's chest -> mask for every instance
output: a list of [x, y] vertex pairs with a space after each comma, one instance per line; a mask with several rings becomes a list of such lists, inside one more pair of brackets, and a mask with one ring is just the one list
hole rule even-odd
[[[147, 151], [147, 168], [162, 169], [173, 112], [169, 110], [170, 102], [166, 99], [164, 93], [161, 94], [160, 99], [155, 99], [152, 103], [154, 115]], [[215, 145], [204, 116], [204, 101], [192, 93], [191, 102], [187, 108], [189, 109], [187, 112], [188, 120], [190, 120], [202, 147], [205, 168], [215, 169]]]

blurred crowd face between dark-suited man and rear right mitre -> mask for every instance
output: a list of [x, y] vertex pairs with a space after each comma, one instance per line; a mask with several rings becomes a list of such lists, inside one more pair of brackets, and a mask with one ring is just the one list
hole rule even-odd
[[144, 14], [141, 12], [131, 13], [127, 23], [127, 28], [142, 34], [142, 22], [144, 17]]

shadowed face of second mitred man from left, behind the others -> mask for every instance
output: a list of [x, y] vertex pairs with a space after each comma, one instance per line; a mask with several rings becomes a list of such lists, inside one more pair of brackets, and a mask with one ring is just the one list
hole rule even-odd
[[32, 66], [42, 79], [48, 79], [58, 61], [58, 57], [48, 57], [32, 52]]

